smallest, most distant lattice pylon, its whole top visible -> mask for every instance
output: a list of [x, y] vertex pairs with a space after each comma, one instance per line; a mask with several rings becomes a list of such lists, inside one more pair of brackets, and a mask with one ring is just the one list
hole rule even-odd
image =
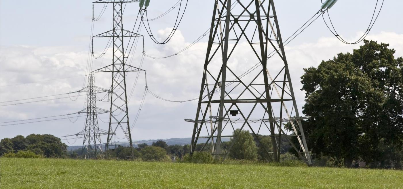
[[83, 148], [86, 151], [85, 158], [97, 158], [98, 150], [102, 153], [101, 135], [107, 134], [107, 131], [98, 127], [98, 114], [109, 112], [98, 108], [96, 104], [96, 93], [108, 91], [95, 86], [93, 74], [89, 74], [88, 86], [81, 89], [80, 92], [87, 92], [87, 108], [79, 113], [86, 113], [85, 129], [80, 133], [84, 135]]

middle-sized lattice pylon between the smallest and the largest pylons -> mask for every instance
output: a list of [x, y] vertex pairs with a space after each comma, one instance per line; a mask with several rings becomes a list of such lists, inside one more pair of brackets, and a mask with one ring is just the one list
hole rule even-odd
[[[111, 3], [113, 6], [113, 29], [93, 37], [112, 37], [112, 64], [100, 68], [93, 73], [109, 72], [112, 73], [112, 85], [110, 95], [110, 114], [108, 138], [106, 140], [105, 149], [112, 140], [112, 135], [116, 133], [116, 129], [120, 127], [123, 134], [130, 143], [133, 157], [133, 143], [129, 125], [129, 110], [127, 108], [127, 92], [126, 92], [126, 74], [127, 72], [145, 71], [129, 64], [126, 64], [128, 58], [125, 54], [125, 37], [142, 37], [137, 33], [123, 29], [123, 4], [139, 2], [139, 0], [98, 0], [94, 3]], [[108, 154], [106, 154], [108, 156]]]

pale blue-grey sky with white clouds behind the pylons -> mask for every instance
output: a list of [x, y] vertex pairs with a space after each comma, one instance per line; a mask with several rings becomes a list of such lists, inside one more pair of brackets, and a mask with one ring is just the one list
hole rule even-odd
[[[151, 1], [147, 8], [148, 16], [157, 17], [176, 2], [177, 0]], [[167, 56], [188, 46], [209, 28], [213, 3], [213, 0], [189, 0], [177, 32], [167, 44], [154, 44], [144, 30], [139, 31], [145, 36], [146, 54]], [[321, 6], [320, 0], [275, 0], [274, 3], [283, 39], [292, 35]], [[329, 10], [334, 27], [348, 41], [359, 38], [368, 27], [375, 4], [376, 0], [339, 0]], [[104, 4], [94, 4], [95, 17], [100, 15], [103, 6]], [[403, 56], [403, 26], [399, 24], [401, 21], [398, 19], [403, 18], [403, 12], [400, 11], [402, 6], [403, 2], [400, 0], [385, 1], [374, 27], [366, 37], [366, 39], [390, 44], [390, 47], [396, 50], [395, 56]], [[178, 7], [164, 17], [150, 21], [150, 27], [158, 39], [163, 39], [172, 30], [177, 11]], [[124, 13], [124, 27], [131, 30], [137, 18], [138, 4], [127, 5]], [[107, 6], [101, 15], [100, 19], [94, 23], [93, 35], [110, 29], [112, 6]], [[1, 102], [69, 93], [85, 86], [91, 17], [92, 2], [89, 0], [20, 0], [18, 2], [1, 0]], [[147, 70], [147, 85], [150, 91], [162, 98], [176, 101], [196, 98], [199, 95], [207, 40], [208, 37], [204, 37], [185, 52], [170, 58], [145, 57], [142, 69]], [[99, 56], [105, 50], [107, 42], [107, 39], [94, 39], [95, 56]], [[142, 39], [139, 38], [136, 51], [132, 56], [131, 63], [135, 66], [138, 66], [141, 60], [143, 51], [141, 43]], [[300, 90], [303, 68], [318, 66], [322, 60], [331, 59], [340, 52], [352, 52], [362, 44], [362, 42], [355, 45], [341, 43], [320, 18], [285, 47], [300, 113], [305, 103], [305, 94]], [[245, 58], [241, 57], [241, 54], [238, 56], [239, 60]], [[94, 60], [93, 69], [106, 66], [111, 61], [112, 55], [107, 49], [104, 56]], [[245, 62], [242, 65], [249, 66], [249, 64], [251, 63]], [[135, 73], [127, 77], [128, 91], [132, 91], [136, 77]], [[139, 110], [145, 89], [144, 74], [139, 74], [138, 78], [133, 96], [129, 100], [131, 122]], [[109, 88], [110, 75], [96, 74], [95, 81], [96, 85]], [[1, 125], [6, 125], [7, 123], [3, 122], [8, 121], [78, 112], [85, 108], [86, 98], [85, 93], [79, 95], [73, 93], [70, 96], [52, 96], [43, 99], [62, 98], [10, 106], [3, 106], [10, 103], [2, 103]], [[99, 98], [103, 97], [103, 95], [99, 96]], [[97, 105], [108, 109], [110, 104], [98, 101]], [[132, 131], [133, 140], [191, 137], [193, 124], [185, 122], [184, 119], [194, 119], [196, 108], [197, 101], [166, 102], [147, 94]], [[66, 117], [68, 118], [47, 122], [2, 126], [0, 138], [26, 136], [31, 133], [52, 134], [59, 137], [74, 134], [83, 129], [85, 117], [70, 115], [55, 118]], [[107, 129], [107, 121], [107, 114], [100, 115], [100, 128]], [[80, 139], [64, 141], [68, 145], [82, 143]]]

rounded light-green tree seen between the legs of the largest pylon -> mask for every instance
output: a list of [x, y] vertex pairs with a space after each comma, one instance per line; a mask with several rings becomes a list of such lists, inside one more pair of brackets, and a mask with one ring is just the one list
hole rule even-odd
[[234, 142], [229, 156], [237, 160], [256, 160], [258, 158], [258, 147], [256, 147], [253, 136], [249, 131], [236, 129], [233, 132], [235, 138], [231, 138], [230, 141]]

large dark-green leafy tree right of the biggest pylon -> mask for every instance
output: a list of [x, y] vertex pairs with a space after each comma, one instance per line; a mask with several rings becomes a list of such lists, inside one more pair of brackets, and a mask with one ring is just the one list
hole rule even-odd
[[364, 40], [350, 53], [304, 69], [303, 113], [313, 152], [343, 158], [381, 161], [382, 145], [403, 143], [403, 58], [388, 44]]

